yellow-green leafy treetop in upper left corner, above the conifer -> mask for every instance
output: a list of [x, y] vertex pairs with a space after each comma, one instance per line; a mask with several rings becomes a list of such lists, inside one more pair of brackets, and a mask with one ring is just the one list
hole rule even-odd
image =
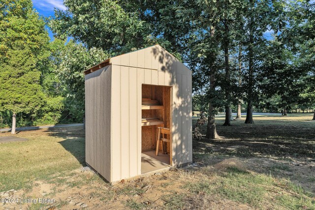
[[31, 0], [5, 0], [6, 3], [8, 6], [0, 7], [1, 54], [27, 46], [36, 58], [49, 42], [44, 20], [32, 9]]

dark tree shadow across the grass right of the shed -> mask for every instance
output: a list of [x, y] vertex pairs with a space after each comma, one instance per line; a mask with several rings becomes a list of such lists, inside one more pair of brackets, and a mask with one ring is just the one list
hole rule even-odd
[[[273, 123], [274, 122], [274, 123]], [[235, 126], [220, 126], [217, 130], [221, 139], [193, 140], [195, 152], [213, 153], [238, 157], [302, 158], [315, 161], [315, 130], [312, 122], [296, 121], [294, 124], [277, 125], [269, 123], [245, 125], [243, 121]], [[202, 126], [205, 134], [206, 125]]]

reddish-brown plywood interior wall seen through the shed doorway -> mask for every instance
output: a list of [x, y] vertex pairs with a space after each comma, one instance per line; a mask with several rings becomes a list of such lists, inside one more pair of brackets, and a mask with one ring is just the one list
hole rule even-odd
[[[163, 110], [142, 110], [142, 118], [159, 118], [164, 121], [163, 125], [142, 126], [141, 128], [141, 151], [155, 150], [158, 127], [170, 128], [170, 87], [142, 85], [142, 98], [158, 100], [164, 106]], [[165, 144], [165, 147], [169, 153], [169, 144], [167, 146]], [[160, 150], [162, 150], [161, 145]]]

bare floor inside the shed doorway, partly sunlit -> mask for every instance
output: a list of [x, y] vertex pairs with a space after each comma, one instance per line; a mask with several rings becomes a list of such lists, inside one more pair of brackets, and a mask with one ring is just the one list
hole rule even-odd
[[144, 151], [141, 153], [141, 174], [147, 174], [154, 171], [170, 168], [169, 154], [158, 153], [156, 151]]

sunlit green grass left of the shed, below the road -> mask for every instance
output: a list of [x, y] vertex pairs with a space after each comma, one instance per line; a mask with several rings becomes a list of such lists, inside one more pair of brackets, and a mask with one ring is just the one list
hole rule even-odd
[[30, 189], [33, 180], [51, 180], [84, 164], [82, 131], [81, 136], [69, 138], [47, 134], [32, 131], [25, 136], [29, 141], [0, 144], [0, 191]]

